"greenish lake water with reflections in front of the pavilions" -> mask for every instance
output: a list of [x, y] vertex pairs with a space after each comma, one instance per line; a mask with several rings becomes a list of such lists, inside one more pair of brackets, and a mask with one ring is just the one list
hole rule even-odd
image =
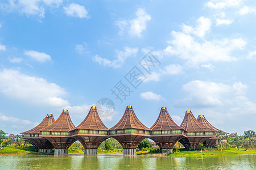
[[0, 155], [0, 169], [256, 169], [256, 154], [224, 156]]

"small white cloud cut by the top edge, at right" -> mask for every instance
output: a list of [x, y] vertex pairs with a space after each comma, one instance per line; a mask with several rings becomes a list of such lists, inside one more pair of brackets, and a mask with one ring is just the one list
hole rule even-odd
[[206, 3], [209, 8], [222, 9], [241, 5], [242, 0], [210, 0]]

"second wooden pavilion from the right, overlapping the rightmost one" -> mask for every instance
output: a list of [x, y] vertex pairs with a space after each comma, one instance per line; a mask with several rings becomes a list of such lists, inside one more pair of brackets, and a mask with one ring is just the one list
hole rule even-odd
[[191, 111], [186, 111], [181, 128], [187, 130], [187, 137], [180, 139], [179, 142], [187, 149], [199, 148], [199, 143], [204, 143], [207, 139], [215, 137], [214, 130], [205, 127], [193, 116]]

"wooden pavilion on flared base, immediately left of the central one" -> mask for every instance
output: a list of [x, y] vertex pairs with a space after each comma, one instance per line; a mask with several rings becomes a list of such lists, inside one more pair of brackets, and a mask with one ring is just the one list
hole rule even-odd
[[91, 107], [84, 121], [71, 130], [71, 137], [79, 140], [84, 146], [85, 155], [97, 155], [98, 147], [108, 137], [108, 128], [98, 116], [97, 108]]

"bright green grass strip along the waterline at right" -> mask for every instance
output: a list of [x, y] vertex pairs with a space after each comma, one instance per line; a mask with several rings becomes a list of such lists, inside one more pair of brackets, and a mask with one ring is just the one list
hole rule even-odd
[[186, 151], [181, 150], [180, 152], [170, 154], [168, 156], [214, 156], [214, 155], [236, 155], [236, 154], [256, 154], [256, 149], [245, 149], [240, 148], [237, 150], [236, 148], [228, 148], [223, 151], [217, 149], [205, 150], [200, 152], [200, 150], [196, 151]]

